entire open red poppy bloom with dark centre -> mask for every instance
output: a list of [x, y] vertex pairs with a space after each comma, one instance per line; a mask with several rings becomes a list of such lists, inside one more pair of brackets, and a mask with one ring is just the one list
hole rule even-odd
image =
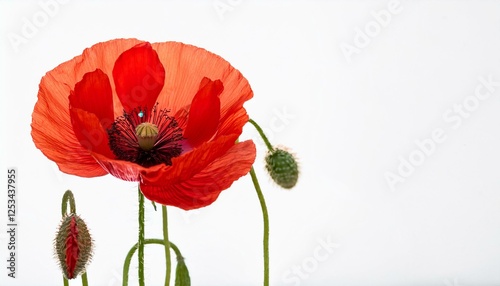
[[117, 39], [42, 78], [31, 135], [65, 173], [138, 181], [150, 200], [195, 209], [249, 172], [255, 145], [236, 140], [252, 96], [204, 49]]

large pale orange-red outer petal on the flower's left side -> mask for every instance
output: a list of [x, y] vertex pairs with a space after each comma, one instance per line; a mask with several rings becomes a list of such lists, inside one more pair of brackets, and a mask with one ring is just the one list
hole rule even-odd
[[[81, 177], [107, 174], [74, 134], [68, 95], [88, 72], [99, 68], [106, 74], [112, 74], [118, 56], [137, 43], [140, 41], [136, 39], [98, 43], [85, 49], [82, 55], [60, 64], [42, 78], [33, 109], [31, 136], [36, 147], [56, 162], [62, 172]], [[118, 97], [113, 96], [115, 115], [122, 115], [122, 105]]]

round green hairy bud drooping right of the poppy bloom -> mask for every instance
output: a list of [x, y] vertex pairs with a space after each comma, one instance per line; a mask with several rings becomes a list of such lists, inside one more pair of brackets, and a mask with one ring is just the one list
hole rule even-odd
[[266, 169], [271, 178], [285, 189], [291, 189], [299, 178], [295, 156], [284, 149], [273, 149], [266, 155]]

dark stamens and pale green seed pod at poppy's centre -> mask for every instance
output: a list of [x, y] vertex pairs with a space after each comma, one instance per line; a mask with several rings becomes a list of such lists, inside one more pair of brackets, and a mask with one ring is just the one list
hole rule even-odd
[[124, 112], [108, 129], [109, 146], [117, 159], [144, 167], [172, 165], [172, 158], [182, 153], [182, 129], [168, 110], [149, 112], [135, 108]]

